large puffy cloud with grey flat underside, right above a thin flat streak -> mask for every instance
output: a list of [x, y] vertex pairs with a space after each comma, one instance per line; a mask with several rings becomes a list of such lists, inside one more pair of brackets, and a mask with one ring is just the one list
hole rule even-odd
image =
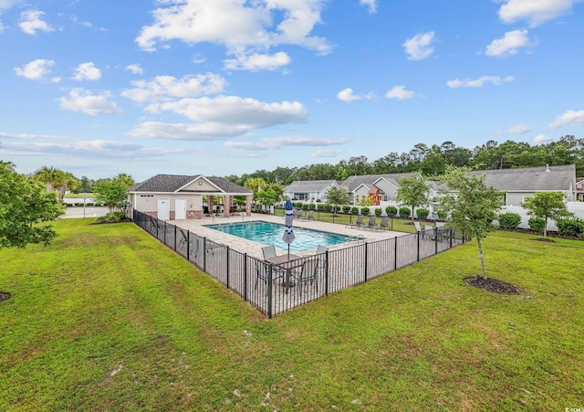
[[237, 96], [153, 103], [146, 108], [146, 111], [152, 113], [172, 111], [193, 121], [244, 125], [249, 129], [304, 121], [308, 114], [306, 108], [297, 101], [265, 103]]

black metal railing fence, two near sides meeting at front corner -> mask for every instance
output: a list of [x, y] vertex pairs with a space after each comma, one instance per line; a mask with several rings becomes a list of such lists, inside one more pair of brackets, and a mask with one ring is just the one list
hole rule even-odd
[[469, 240], [462, 232], [433, 228], [276, 265], [136, 210], [133, 221], [269, 318]]

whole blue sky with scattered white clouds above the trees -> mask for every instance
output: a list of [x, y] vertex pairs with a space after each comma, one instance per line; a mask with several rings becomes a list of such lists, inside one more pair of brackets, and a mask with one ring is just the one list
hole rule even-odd
[[584, 137], [579, 0], [0, 0], [0, 159], [244, 174]]

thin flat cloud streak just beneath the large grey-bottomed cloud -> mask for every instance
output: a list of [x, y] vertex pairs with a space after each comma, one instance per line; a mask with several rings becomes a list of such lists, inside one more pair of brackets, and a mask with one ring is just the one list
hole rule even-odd
[[150, 137], [183, 141], [218, 141], [245, 134], [245, 125], [219, 123], [165, 123], [143, 121], [127, 134], [133, 137]]

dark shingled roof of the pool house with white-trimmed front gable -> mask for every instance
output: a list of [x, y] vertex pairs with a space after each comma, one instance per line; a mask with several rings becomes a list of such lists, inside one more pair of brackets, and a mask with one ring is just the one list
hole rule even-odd
[[[180, 174], [156, 174], [150, 179], [145, 180], [137, 185], [133, 185], [129, 192], [148, 192], [148, 193], [172, 193], [180, 192], [181, 188], [190, 184], [196, 179], [203, 178], [217, 187], [217, 193], [225, 194], [252, 194], [253, 192], [245, 187], [236, 185], [224, 177], [203, 176], [203, 174], [180, 175]], [[209, 192], [209, 191], [205, 191]]]

